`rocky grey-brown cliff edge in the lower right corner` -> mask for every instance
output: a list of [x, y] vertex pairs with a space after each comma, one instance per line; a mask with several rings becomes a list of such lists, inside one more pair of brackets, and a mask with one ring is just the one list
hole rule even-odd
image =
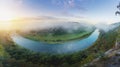
[[120, 26], [116, 29], [116, 39], [113, 47], [109, 48], [102, 56], [94, 59], [85, 67], [119, 67], [120, 66]]

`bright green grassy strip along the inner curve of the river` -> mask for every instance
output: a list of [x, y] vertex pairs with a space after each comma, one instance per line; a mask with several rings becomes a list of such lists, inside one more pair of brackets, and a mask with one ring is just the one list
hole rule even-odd
[[74, 34], [65, 34], [65, 35], [59, 35], [59, 36], [52, 36], [52, 35], [40, 35], [40, 34], [25, 34], [23, 35], [25, 38], [35, 40], [35, 41], [42, 41], [42, 42], [47, 42], [47, 43], [61, 43], [61, 42], [66, 42], [66, 41], [71, 41], [75, 39], [82, 39], [88, 35], [90, 35], [92, 31], [85, 31], [82, 33], [74, 33]]

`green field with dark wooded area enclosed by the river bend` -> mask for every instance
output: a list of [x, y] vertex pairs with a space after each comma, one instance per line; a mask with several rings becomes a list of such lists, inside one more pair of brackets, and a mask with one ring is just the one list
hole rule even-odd
[[[74, 24], [74, 23], [73, 23]], [[87, 27], [82, 26], [78, 27], [78, 29], [66, 29], [64, 27], [55, 27], [43, 30], [32, 30], [27, 33], [21, 33], [25, 38], [42, 41], [47, 43], [63, 43], [66, 41], [71, 41], [75, 39], [82, 39], [88, 35], [90, 35], [95, 28], [93, 26]]]

